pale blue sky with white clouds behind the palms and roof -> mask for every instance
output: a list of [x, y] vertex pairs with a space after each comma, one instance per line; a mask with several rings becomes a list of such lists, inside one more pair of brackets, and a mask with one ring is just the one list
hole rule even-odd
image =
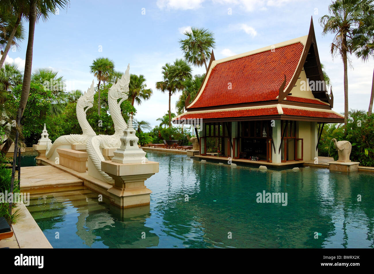
[[[213, 31], [215, 59], [221, 59], [307, 35], [313, 16], [320, 59], [332, 81], [334, 110], [343, 112], [343, 63], [340, 57], [331, 57], [332, 35], [322, 36], [318, 21], [328, 13], [329, 3], [327, 0], [71, 0], [67, 10], [60, 10], [49, 21], [36, 26], [33, 70], [53, 68], [67, 80], [68, 90], [87, 90], [94, 79], [89, 73], [93, 59], [108, 57], [120, 71], [125, 71], [130, 63], [130, 73], [143, 74], [147, 87], [153, 89], [150, 100], [135, 105], [135, 118], [156, 125], [159, 124], [156, 119], [168, 110], [168, 95], [157, 91], [155, 82], [162, 80], [161, 67], [166, 62], [183, 56], [178, 40], [183, 38], [185, 29], [195, 26]], [[9, 52], [7, 61], [15, 61], [23, 69], [26, 47], [27, 39], [19, 51]], [[374, 62], [363, 63], [355, 56], [351, 59], [349, 108], [367, 111]], [[193, 67], [193, 72], [201, 74], [205, 67]], [[172, 109], [178, 96], [172, 97]]]

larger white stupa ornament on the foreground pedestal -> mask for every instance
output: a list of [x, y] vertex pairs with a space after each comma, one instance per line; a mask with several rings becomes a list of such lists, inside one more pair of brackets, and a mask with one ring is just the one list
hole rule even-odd
[[146, 153], [138, 146], [139, 138], [135, 135], [131, 114], [127, 125], [128, 127], [123, 131], [123, 136], [120, 138], [121, 147], [113, 152], [112, 162], [121, 164], [148, 162], [148, 159], [145, 158]]

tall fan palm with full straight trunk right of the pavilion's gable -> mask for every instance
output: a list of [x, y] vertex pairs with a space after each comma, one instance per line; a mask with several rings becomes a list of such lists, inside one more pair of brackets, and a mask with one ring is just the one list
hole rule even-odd
[[344, 125], [347, 132], [348, 122], [348, 69], [347, 54], [352, 53], [353, 31], [358, 28], [359, 20], [363, 13], [363, 7], [368, 0], [336, 0], [329, 5], [330, 15], [324, 15], [319, 19], [323, 28], [322, 34], [334, 34], [331, 44], [331, 54], [337, 52], [343, 59], [344, 66]]

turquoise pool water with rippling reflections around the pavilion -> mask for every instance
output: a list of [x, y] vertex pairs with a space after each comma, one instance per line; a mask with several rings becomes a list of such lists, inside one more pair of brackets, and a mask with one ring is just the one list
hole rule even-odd
[[[263, 173], [182, 154], [147, 158], [160, 163], [145, 181], [150, 206], [120, 211], [88, 189], [33, 196], [28, 209], [52, 246], [373, 248], [372, 173]], [[287, 205], [257, 203], [263, 191], [287, 193]]]

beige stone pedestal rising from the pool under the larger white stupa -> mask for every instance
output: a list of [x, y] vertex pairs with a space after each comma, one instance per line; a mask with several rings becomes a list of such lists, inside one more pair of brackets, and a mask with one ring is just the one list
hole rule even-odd
[[144, 181], [159, 172], [159, 163], [101, 161], [101, 170], [114, 180], [113, 187], [108, 189], [110, 203], [120, 208], [149, 205], [151, 190], [147, 189]]

